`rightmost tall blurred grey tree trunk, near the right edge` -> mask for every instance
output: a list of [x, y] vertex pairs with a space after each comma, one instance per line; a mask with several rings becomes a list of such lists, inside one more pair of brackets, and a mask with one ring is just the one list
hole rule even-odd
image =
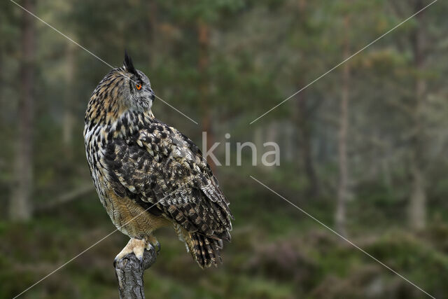
[[[423, 1], [417, 0], [416, 11], [423, 8]], [[412, 138], [411, 177], [412, 190], [409, 199], [409, 224], [414, 230], [420, 230], [426, 225], [426, 174], [423, 155], [424, 130], [423, 130], [423, 108], [425, 105], [426, 82], [421, 77], [425, 57], [423, 55], [423, 32], [421, 22], [423, 12], [416, 15], [416, 28], [411, 35], [412, 52], [414, 54], [415, 78], [415, 105], [414, 105], [414, 127], [415, 134]]]

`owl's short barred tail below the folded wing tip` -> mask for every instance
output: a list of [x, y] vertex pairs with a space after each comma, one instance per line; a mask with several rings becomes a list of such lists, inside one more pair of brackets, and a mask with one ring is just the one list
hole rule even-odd
[[193, 259], [202, 269], [211, 265], [217, 267], [218, 263], [223, 263], [220, 254], [220, 250], [223, 249], [223, 240], [198, 232], [187, 232], [179, 227], [176, 228], [176, 232], [178, 232], [179, 239], [185, 242], [187, 251], [191, 253]]

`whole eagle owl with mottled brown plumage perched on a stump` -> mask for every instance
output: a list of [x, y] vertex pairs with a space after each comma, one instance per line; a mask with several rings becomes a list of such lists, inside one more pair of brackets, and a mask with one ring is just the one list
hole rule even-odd
[[156, 119], [148, 77], [125, 53], [123, 67], [97, 85], [85, 112], [87, 162], [99, 199], [131, 239], [116, 260], [160, 244], [154, 231], [173, 225], [200, 267], [221, 262], [230, 241], [229, 202], [188, 137]]

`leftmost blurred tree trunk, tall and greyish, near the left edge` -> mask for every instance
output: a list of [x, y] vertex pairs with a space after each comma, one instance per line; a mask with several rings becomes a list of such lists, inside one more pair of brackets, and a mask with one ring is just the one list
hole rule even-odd
[[[28, 11], [34, 11], [34, 1], [25, 0]], [[20, 66], [20, 96], [18, 103], [18, 139], [14, 161], [14, 182], [9, 203], [9, 217], [26, 221], [31, 217], [31, 190], [33, 186], [32, 128], [34, 118], [34, 19], [22, 13], [22, 62]]]

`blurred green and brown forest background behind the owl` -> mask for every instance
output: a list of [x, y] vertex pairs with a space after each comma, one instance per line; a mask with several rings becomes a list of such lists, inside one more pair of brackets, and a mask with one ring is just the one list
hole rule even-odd
[[[172, 230], [148, 298], [425, 298], [253, 181], [254, 176], [436, 298], [448, 298], [448, 4], [437, 1], [18, 1], [106, 62], [124, 49], [202, 144], [235, 214], [221, 267], [200, 270]], [[83, 118], [110, 69], [10, 1], [0, 4], [0, 297], [12, 298], [115, 229], [93, 184]], [[231, 134], [225, 139], [225, 133]], [[244, 149], [236, 164], [236, 142]], [[264, 142], [281, 149], [265, 167]], [[268, 149], [266, 148], [266, 151]], [[270, 149], [269, 149], [270, 150]], [[116, 298], [116, 232], [23, 298]]]

